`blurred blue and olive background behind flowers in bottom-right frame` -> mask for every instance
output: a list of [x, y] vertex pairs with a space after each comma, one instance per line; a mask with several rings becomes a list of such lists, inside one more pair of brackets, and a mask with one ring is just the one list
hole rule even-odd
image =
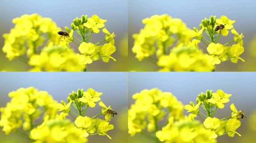
[[[183, 105], [195, 102], [197, 95], [206, 90], [216, 92], [222, 89], [232, 94], [230, 101], [224, 109], [216, 111], [217, 118], [231, 115], [230, 104], [234, 103], [238, 110], [245, 111], [248, 118], [241, 120], [241, 127], [237, 132], [242, 136], [218, 137], [218, 143], [255, 143], [256, 140], [256, 73], [255, 72], [129, 72], [128, 74], [128, 107], [134, 103], [132, 95], [143, 89], [159, 88], [163, 92], [171, 92]], [[184, 111], [186, 115], [186, 111]], [[197, 117], [199, 120], [200, 118]], [[202, 121], [202, 120], [201, 120]], [[150, 143], [137, 134], [134, 137], [128, 135], [130, 143]]]

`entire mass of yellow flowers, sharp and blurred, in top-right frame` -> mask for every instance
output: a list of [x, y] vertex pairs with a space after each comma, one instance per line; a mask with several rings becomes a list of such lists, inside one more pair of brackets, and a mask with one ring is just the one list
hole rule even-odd
[[[215, 64], [228, 60], [232, 63], [237, 63], [238, 59], [244, 61], [240, 57], [244, 52], [244, 36], [233, 28], [235, 20], [226, 16], [205, 18], [199, 25], [200, 30], [195, 27], [190, 30], [182, 20], [167, 14], [153, 15], [143, 19], [142, 23], [144, 28], [133, 35], [132, 52], [139, 61], [148, 58], [163, 67], [160, 71], [214, 71]], [[217, 43], [220, 35], [228, 35], [229, 29], [234, 34], [233, 40], [223, 45]], [[207, 46], [207, 54], [198, 47], [200, 41]], [[229, 45], [232, 42], [237, 44]]]

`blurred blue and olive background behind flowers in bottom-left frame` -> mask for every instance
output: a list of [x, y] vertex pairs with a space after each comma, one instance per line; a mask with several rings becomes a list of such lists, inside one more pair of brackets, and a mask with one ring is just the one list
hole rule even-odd
[[[114, 129], [108, 131], [112, 137], [110, 140], [106, 136], [90, 136], [89, 143], [120, 143], [127, 140], [127, 73], [124, 72], [94, 72], [94, 73], [74, 73], [74, 72], [1, 72], [0, 73], [0, 107], [4, 107], [10, 101], [9, 92], [19, 88], [34, 86], [38, 90], [45, 90], [60, 102], [66, 101], [68, 94], [77, 89], [87, 90], [93, 88], [97, 92], [103, 92], [101, 100], [106, 106], [111, 105], [118, 115], [110, 121]], [[4, 86], [3, 86], [4, 85]], [[101, 112], [98, 102], [95, 108], [89, 108], [87, 116], [93, 117]], [[104, 119], [103, 115], [98, 116]], [[5, 135], [0, 128], [1, 143], [27, 143], [15, 133]]]

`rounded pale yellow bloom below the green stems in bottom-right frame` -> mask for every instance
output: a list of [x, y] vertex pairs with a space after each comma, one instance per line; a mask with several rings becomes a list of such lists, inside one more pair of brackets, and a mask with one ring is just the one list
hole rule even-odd
[[211, 138], [216, 139], [218, 137], [218, 135], [215, 133], [215, 130], [220, 126], [220, 120], [218, 118], [207, 117], [204, 120], [204, 126], [208, 130], [210, 130], [210, 132], [211, 132], [210, 137]]

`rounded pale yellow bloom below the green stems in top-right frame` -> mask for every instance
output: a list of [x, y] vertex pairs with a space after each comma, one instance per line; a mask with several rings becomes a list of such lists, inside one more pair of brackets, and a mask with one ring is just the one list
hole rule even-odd
[[215, 64], [220, 64], [220, 59], [219, 59], [219, 55], [221, 53], [223, 53], [224, 51], [224, 46], [222, 44], [215, 44], [215, 43], [210, 43], [207, 47], [207, 51], [208, 53], [212, 56], [211, 59], [211, 64], [215, 65]]

